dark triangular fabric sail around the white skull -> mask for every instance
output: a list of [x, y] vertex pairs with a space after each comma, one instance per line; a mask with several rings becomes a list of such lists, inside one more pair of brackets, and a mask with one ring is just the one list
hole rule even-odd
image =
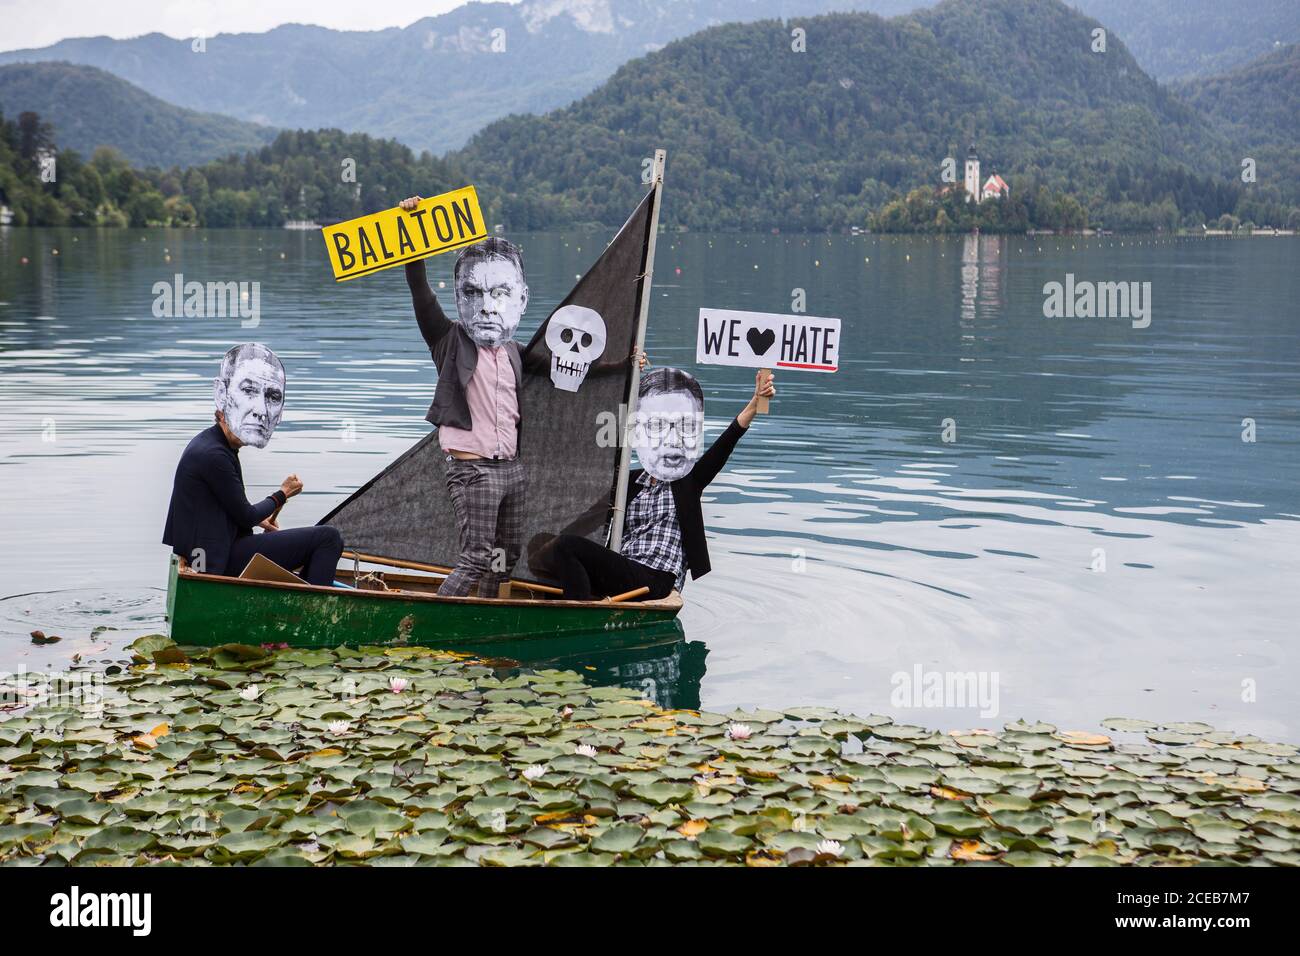
[[[602, 544], [608, 533], [655, 202], [658, 191], [651, 189], [523, 350], [520, 458], [528, 475], [528, 518], [524, 551], [511, 572], [516, 579], [550, 580], [545, 546], [559, 533], [580, 533]], [[455, 308], [447, 306], [455, 315]], [[552, 384], [552, 354], [546, 341], [547, 326], [566, 306], [594, 310], [606, 330], [604, 350], [576, 392]], [[367, 481], [320, 524], [338, 528], [348, 550], [454, 566], [459, 531], [447, 497], [446, 460], [437, 431]]]

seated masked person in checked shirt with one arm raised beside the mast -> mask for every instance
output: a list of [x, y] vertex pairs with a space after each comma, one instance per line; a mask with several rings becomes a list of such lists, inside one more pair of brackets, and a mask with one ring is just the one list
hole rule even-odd
[[[549, 571], [564, 597], [590, 601], [649, 587], [646, 600], [681, 591], [708, 574], [708, 546], [699, 497], [749, 429], [759, 398], [776, 394], [772, 373], [754, 376], [754, 395], [712, 446], [698, 457], [705, 395], [689, 372], [656, 368], [641, 380], [637, 458], [628, 475], [627, 516], [619, 551], [578, 535], [560, 535], [547, 549]], [[694, 464], [692, 464], [694, 462]]]

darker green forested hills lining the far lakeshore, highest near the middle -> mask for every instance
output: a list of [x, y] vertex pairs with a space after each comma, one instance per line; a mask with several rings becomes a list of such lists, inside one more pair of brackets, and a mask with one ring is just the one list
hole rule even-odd
[[[663, 221], [690, 229], [1300, 224], [1295, 48], [1171, 90], [1118, 36], [1093, 52], [1095, 27], [1058, 0], [718, 26], [569, 107], [499, 120], [443, 160], [364, 134], [286, 131], [188, 170], [64, 150], [58, 182], [43, 185], [34, 143], [64, 140], [23, 114], [3, 131], [17, 165], [0, 168], [0, 199], [21, 222], [278, 225], [473, 182], [493, 222], [615, 226], [666, 146]], [[965, 202], [971, 143], [982, 178], [1000, 173], [1009, 198]], [[1247, 155], [1257, 182], [1242, 179]]]

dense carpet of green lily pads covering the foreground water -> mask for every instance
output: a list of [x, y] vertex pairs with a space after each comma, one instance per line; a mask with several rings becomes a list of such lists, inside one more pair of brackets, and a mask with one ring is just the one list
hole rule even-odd
[[94, 704], [26, 675], [0, 865], [1300, 865], [1300, 749], [1204, 723], [942, 734], [415, 646], [130, 650]]

